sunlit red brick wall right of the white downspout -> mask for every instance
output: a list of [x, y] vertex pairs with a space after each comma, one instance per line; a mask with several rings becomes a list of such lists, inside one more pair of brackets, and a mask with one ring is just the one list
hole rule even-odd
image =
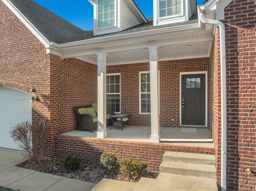
[[[233, 0], [225, 9], [227, 66], [227, 190], [256, 190], [256, 3]], [[217, 40], [217, 37], [215, 37]], [[218, 49], [219, 47], [214, 49]], [[218, 59], [214, 65], [218, 65]], [[216, 91], [217, 93], [217, 91]], [[218, 111], [218, 109], [216, 110]], [[220, 156], [220, 129], [214, 146]], [[217, 141], [218, 140], [218, 141]], [[218, 157], [219, 158], [219, 157]], [[218, 160], [220, 166], [220, 160]], [[251, 169], [248, 173], [246, 169]], [[218, 179], [220, 181], [220, 179]]]

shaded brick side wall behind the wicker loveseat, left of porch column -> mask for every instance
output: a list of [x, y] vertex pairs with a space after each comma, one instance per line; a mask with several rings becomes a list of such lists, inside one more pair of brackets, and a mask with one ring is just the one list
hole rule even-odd
[[79, 59], [50, 57], [51, 128], [53, 136], [74, 130], [74, 106], [97, 102], [97, 66]]

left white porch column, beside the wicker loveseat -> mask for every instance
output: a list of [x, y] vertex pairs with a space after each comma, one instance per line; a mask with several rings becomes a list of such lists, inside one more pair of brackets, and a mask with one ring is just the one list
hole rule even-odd
[[96, 53], [98, 56], [98, 132], [97, 138], [106, 138], [106, 57], [107, 53]]

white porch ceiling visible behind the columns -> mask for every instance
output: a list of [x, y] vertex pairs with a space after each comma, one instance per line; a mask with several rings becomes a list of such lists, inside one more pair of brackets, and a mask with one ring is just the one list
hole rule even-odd
[[[187, 46], [192, 45], [192, 46]], [[159, 60], [174, 60], [197, 57], [209, 57], [212, 42], [188, 43], [183, 45], [171, 45], [160, 47], [158, 56]], [[84, 61], [97, 63], [96, 55], [86, 55], [77, 57]], [[149, 49], [137, 49], [121, 52], [108, 53], [107, 65], [129, 64], [149, 62]]]

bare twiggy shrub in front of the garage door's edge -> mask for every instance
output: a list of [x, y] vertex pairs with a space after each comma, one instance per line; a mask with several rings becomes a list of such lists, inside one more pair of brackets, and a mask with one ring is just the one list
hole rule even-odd
[[10, 136], [22, 149], [24, 157], [37, 163], [41, 158], [44, 145], [49, 137], [49, 123], [46, 120], [29, 120], [15, 124], [10, 131]]

